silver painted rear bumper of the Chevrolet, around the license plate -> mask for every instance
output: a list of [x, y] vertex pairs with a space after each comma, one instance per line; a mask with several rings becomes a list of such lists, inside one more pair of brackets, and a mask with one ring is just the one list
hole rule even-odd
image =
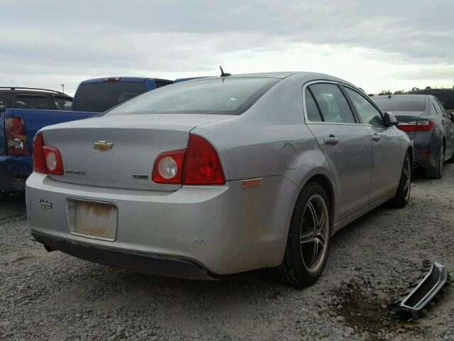
[[[33, 234], [118, 254], [184, 259], [220, 275], [281, 263], [293, 208], [289, 193], [293, 192], [293, 183], [279, 176], [262, 178], [262, 185], [251, 188], [228, 181], [221, 186], [183, 186], [175, 192], [162, 192], [62, 183], [32, 173], [26, 203]], [[116, 205], [115, 240], [72, 234], [68, 199]], [[90, 260], [104, 263], [105, 257], [98, 256]], [[126, 267], [133, 269], [131, 264]]]

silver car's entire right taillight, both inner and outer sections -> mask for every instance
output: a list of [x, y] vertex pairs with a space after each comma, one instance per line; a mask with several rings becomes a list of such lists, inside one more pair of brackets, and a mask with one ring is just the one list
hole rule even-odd
[[153, 166], [155, 183], [223, 185], [226, 183], [218, 153], [206, 139], [189, 134], [187, 150], [166, 151]]

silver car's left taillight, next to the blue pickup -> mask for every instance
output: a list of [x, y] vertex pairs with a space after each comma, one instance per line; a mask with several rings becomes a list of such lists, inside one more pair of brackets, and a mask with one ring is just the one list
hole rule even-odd
[[33, 171], [52, 175], [63, 175], [63, 162], [60, 151], [46, 146], [43, 134], [38, 133], [33, 139]]

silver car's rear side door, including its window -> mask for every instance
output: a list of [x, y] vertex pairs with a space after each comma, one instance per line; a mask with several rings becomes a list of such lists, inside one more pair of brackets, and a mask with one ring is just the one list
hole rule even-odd
[[304, 89], [306, 125], [319, 142], [338, 188], [341, 219], [369, 203], [372, 144], [358, 124], [341, 88], [334, 82], [309, 83]]

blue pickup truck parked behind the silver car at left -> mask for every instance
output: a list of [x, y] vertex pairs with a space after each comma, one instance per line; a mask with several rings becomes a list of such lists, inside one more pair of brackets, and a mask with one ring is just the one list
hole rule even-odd
[[28, 109], [13, 109], [14, 106], [0, 104], [0, 197], [25, 189], [26, 179], [33, 171], [33, 137], [44, 126], [93, 117], [138, 94], [173, 82], [145, 77], [85, 80], [77, 87], [69, 111], [43, 110], [33, 104]]

